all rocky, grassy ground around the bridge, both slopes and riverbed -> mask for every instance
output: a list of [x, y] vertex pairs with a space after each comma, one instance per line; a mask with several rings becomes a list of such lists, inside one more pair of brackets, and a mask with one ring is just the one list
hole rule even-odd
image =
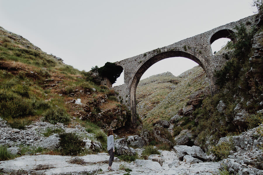
[[135, 125], [94, 75], [105, 67], [79, 71], [0, 27], [0, 174], [263, 174], [262, 12], [221, 50], [217, 94], [199, 66], [151, 76], [137, 87]]

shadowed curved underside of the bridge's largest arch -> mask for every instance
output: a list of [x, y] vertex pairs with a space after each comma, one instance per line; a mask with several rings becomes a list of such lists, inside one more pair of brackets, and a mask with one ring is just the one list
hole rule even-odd
[[151, 67], [153, 64], [159, 62], [160, 60], [166, 59], [166, 58], [171, 58], [171, 57], [185, 57], [188, 58], [190, 60], [193, 60], [194, 62], [196, 62], [197, 64], [199, 64], [204, 71], [205, 70], [205, 62], [201, 62], [201, 60], [203, 60], [203, 58], [196, 54], [192, 55], [190, 53], [184, 52], [184, 51], [180, 51], [180, 50], [172, 50], [172, 51], [166, 51], [166, 52], [162, 52], [159, 53], [157, 55], [154, 55], [153, 57], [150, 57], [148, 60], [146, 60], [145, 62], [143, 62], [140, 67], [134, 72], [133, 74], [133, 78], [130, 81], [130, 106], [131, 106], [131, 112], [132, 112], [132, 121], [136, 122], [136, 88], [137, 85], [141, 79], [141, 76], [145, 73], [145, 71]]

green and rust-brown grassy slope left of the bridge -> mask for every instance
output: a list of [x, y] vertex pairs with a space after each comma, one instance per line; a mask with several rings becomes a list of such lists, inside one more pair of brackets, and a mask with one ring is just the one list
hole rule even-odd
[[[0, 27], [0, 103], [8, 107], [8, 109], [0, 107], [0, 116], [12, 127], [23, 128], [40, 119], [48, 108], [59, 107], [70, 118], [79, 117], [76, 113], [83, 109], [72, 107], [72, 103], [65, 104], [66, 101], [81, 98], [82, 103], [86, 104], [94, 97], [109, 91], [88, 80], [90, 77], [87, 72], [57, 61], [53, 55], [46, 54], [22, 36]], [[91, 88], [97, 90], [96, 94], [87, 95], [75, 91], [76, 89], [87, 91]], [[68, 95], [72, 92], [75, 93], [74, 97]], [[5, 96], [6, 94], [9, 96]], [[24, 105], [13, 97], [27, 104]], [[116, 105], [113, 101], [109, 103], [112, 105], [106, 105], [105, 108]], [[20, 108], [25, 112], [17, 113]], [[5, 113], [7, 110], [9, 111]], [[91, 123], [77, 121], [89, 127], [89, 130], [99, 129]]]

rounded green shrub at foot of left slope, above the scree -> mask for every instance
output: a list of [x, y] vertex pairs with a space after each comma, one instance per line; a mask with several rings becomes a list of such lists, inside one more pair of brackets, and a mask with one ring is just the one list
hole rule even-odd
[[51, 124], [56, 124], [57, 122], [68, 124], [70, 118], [65, 114], [64, 110], [60, 107], [52, 107], [46, 110], [43, 114], [44, 121], [48, 121]]

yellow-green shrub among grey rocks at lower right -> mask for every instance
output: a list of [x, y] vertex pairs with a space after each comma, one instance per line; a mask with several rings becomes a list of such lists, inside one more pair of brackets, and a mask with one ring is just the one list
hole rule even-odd
[[224, 141], [218, 146], [212, 146], [210, 151], [218, 157], [219, 160], [227, 158], [230, 154], [230, 151], [234, 149], [233, 139], [229, 138], [229, 141]]

